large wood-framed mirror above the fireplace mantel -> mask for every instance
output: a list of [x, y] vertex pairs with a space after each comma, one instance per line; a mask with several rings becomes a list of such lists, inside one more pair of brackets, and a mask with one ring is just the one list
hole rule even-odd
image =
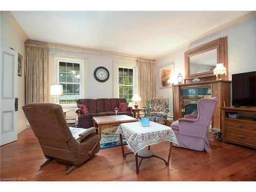
[[[227, 37], [218, 38], [185, 52], [185, 83], [194, 78], [201, 81], [216, 80], [214, 69], [217, 63], [224, 63], [228, 71]], [[227, 79], [222, 76], [222, 79]]]

